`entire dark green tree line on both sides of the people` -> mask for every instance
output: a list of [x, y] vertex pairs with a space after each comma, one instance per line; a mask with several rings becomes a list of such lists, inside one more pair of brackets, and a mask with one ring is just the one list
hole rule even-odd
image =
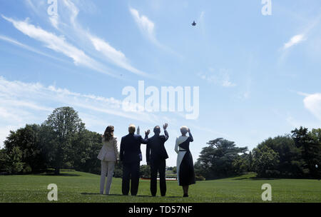
[[[0, 150], [0, 173], [42, 173], [51, 168], [58, 174], [61, 168], [73, 168], [99, 174], [101, 136], [88, 131], [73, 108], [55, 109], [44, 123], [10, 131]], [[224, 138], [215, 138], [207, 145], [195, 162], [198, 180], [246, 172], [262, 178], [320, 178], [316, 165], [321, 161], [321, 128], [295, 128], [291, 134], [267, 138], [252, 151]], [[148, 166], [141, 166], [141, 176], [149, 173]], [[121, 162], [114, 176], [122, 176]]]

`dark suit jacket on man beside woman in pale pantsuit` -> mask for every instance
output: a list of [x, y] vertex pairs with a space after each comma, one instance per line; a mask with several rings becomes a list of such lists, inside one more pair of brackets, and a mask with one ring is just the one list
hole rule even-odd
[[121, 161], [123, 163], [134, 163], [141, 161], [141, 143], [146, 144], [147, 140], [140, 135], [129, 133], [121, 138]]

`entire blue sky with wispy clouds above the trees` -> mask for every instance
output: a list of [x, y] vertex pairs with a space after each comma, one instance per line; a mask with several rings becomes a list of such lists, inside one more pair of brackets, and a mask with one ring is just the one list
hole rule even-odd
[[[72, 106], [91, 131], [189, 126], [194, 161], [210, 139], [254, 148], [321, 123], [321, 2], [0, 0], [0, 139]], [[196, 26], [191, 26], [195, 20]], [[199, 87], [199, 116], [127, 112], [126, 86]], [[153, 133], [152, 133], [153, 134]], [[2, 146], [2, 142], [1, 142]], [[142, 146], [145, 153], [145, 147]], [[145, 163], [145, 161], [143, 161]]]

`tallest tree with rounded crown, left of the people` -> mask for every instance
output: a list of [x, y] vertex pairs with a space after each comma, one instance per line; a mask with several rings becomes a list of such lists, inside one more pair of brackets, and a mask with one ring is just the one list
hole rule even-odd
[[51, 150], [49, 162], [58, 174], [64, 163], [72, 161], [71, 158], [75, 153], [72, 142], [76, 134], [85, 129], [85, 124], [81, 122], [81, 118], [73, 108], [62, 107], [51, 113], [45, 125], [49, 127], [49, 131], [54, 133], [55, 139], [51, 141], [51, 146], [47, 147], [47, 150]]

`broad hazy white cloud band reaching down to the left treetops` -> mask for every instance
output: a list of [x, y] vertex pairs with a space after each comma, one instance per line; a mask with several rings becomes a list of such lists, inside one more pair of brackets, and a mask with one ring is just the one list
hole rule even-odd
[[0, 146], [10, 130], [27, 123], [42, 123], [55, 108], [71, 106], [90, 128], [103, 128], [114, 117], [124, 121], [156, 124], [153, 113], [123, 111], [122, 101], [114, 98], [80, 94], [56, 86], [8, 81], [0, 76]]

